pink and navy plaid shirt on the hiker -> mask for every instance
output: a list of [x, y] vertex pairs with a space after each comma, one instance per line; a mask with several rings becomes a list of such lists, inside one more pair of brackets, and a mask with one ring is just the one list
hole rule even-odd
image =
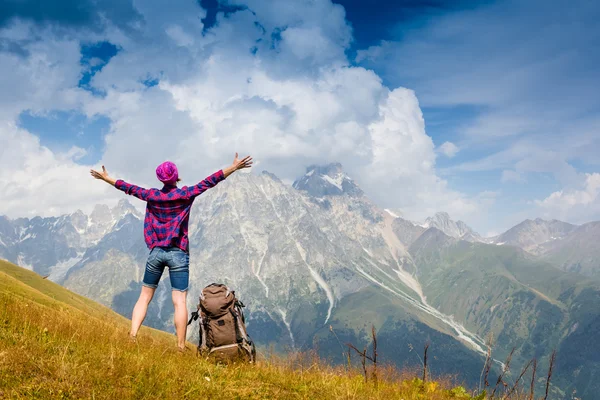
[[149, 249], [179, 247], [189, 252], [188, 222], [192, 203], [196, 196], [223, 179], [223, 170], [219, 170], [190, 187], [165, 185], [162, 189], [144, 189], [121, 179], [115, 182], [115, 187], [148, 203], [144, 218], [144, 239]]

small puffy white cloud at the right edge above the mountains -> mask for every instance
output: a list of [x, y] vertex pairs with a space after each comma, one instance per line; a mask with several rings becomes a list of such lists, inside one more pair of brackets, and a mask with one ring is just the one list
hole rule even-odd
[[564, 189], [550, 194], [535, 204], [545, 216], [555, 216], [574, 222], [586, 222], [590, 216], [600, 217], [600, 173], [585, 174], [579, 188]]

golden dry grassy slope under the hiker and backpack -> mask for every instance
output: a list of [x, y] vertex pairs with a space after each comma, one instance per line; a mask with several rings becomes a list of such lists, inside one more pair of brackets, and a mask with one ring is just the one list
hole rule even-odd
[[[408, 381], [377, 388], [310, 359], [214, 365], [39, 275], [0, 261], [0, 398], [446, 399]], [[465, 397], [452, 397], [465, 398]]]

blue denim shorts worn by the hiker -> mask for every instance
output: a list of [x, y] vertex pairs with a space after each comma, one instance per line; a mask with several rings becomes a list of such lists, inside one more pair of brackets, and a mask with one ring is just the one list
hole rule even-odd
[[169, 267], [171, 288], [180, 292], [187, 291], [190, 281], [190, 256], [178, 247], [155, 247], [150, 251], [143, 285], [156, 289], [165, 267]]

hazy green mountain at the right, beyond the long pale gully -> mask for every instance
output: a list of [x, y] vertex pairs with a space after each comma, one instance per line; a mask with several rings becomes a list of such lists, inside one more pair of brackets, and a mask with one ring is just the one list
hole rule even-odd
[[[429, 303], [469, 331], [494, 338], [513, 365], [557, 350], [556, 383], [569, 395], [595, 398], [600, 358], [600, 280], [569, 274], [511, 246], [469, 243], [429, 229], [411, 246]], [[561, 398], [560, 393], [555, 393]], [[553, 396], [554, 398], [554, 396]]]

